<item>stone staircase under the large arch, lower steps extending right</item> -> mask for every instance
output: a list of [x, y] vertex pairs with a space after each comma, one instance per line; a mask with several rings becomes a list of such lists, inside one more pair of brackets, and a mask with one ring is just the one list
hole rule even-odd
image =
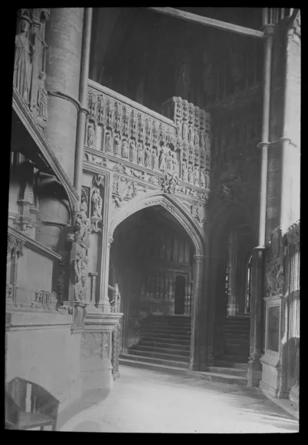
[[120, 355], [120, 365], [246, 385], [248, 359], [240, 362], [237, 355], [219, 357], [215, 366], [208, 366], [206, 371], [189, 370], [190, 317], [149, 316], [140, 325], [140, 341], [127, 354]]

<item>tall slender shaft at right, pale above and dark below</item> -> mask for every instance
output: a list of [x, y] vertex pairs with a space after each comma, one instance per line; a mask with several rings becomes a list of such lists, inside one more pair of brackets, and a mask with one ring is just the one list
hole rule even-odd
[[271, 60], [273, 50], [274, 26], [265, 26], [266, 35], [264, 51], [264, 90], [262, 118], [262, 166], [259, 192], [259, 245], [253, 250], [253, 280], [250, 311], [250, 357], [248, 361], [248, 386], [258, 386], [261, 379], [262, 364], [259, 362], [262, 353], [263, 338], [263, 297], [264, 297], [264, 253], [266, 227], [266, 187], [268, 162], [268, 129], [271, 98]]

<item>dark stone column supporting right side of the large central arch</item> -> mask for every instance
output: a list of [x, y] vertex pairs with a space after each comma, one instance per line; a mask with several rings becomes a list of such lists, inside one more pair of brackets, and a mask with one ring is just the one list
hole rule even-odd
[[206, 332], [205, 332], [205, 256], [194, 255], [193, 295], [191, 310], [191, 371], [201, 371], [206, 364]]

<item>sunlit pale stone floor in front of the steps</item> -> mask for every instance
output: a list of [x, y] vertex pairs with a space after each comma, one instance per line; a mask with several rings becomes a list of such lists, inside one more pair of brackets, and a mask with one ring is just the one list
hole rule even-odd
[[[120, 367], [103, 402], [59, 424], [80, 432], [298, 432], [298, 421], [258, 389]], [[96, 403], [96, 405], [94, 405]]]

